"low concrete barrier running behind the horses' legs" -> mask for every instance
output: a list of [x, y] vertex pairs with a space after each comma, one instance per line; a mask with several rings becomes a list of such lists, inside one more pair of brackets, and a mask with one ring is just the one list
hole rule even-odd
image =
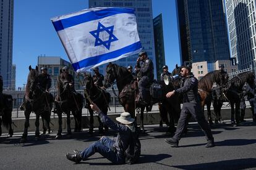
[[[213, 111], [212, 111], [213, 112]], [[111, 119], [116, 121], [116, 117], [119, 115], [112, 114], [109, 115]], [[223, 120], [230, 120], [231, 119], [231, 109], [230, 108], [223, 108], [221, 110], [221, 116]], [[205, 117], [207, 118], [207, 112], [205, 111]], [[252, 118], [252, 111], [250, 108], [246, 108], [245, 110], [245, 119]], [[194, 121], [194, 119], [191, 119], [190, 121]], [[213, 115], [213, 121], [214, 121], [214, 115]], [[13, 119], [12, 127], [15, 132], [22, 132], [24, 128], [25, 119]], [[140, 123], [140, 114], [137, 115], [137, 123]], [[159, 124], [160, 123], [160, 114], [159, 112], [149, 112], [144, 114], [144, 124]], [[56, 132], [58, 131], [58, 117], [51, 118], [51, 130]], [[71, 117], [71, 127], [74, 128], [74, 118]], [[90, 126], [90, 116], [83, 116], [82, 117], [82, 128], [88, 128]], [[94, 116], [94, 127], [95, 130], [98, 129], [98, 118]], [[66, 118], [62, 118], [62, 129], [63, 132], [66, 132]], [[42, 122], [40, 119], [40, 131], [42, 130]], [[35, 118], [30, 119], [30, 127], [28, 128], [28, 131], [35, 131]], [[2, 127], [2, 132], [7, 133], [7, 129]]]

